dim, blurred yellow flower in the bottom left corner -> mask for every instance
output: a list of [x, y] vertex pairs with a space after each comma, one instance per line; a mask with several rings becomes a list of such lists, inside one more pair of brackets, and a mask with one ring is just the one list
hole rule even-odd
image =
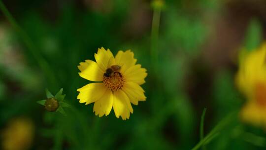
[[33, 142], [34, 126], [28, 118], [16, 118], [2, 132], [3, 150], [28, 150]]

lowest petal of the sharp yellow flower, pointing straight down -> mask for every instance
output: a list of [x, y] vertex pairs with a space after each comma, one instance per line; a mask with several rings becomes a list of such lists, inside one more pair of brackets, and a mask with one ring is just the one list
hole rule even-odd
[[121, 116], [123, 120], [128, 119], [130, 117], [130, 112], [133, 113], [133, 108], [128, 96], [122, 90], [114, 91], [113, 94], [113, 108], [115, 116], [117, 118]]

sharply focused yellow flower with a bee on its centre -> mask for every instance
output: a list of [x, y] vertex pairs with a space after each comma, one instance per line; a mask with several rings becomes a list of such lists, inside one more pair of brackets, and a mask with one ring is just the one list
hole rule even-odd
[[114, 57], [112, 52], [103, 47], [94, 55], [96, 62], [81, 62], [79, 75], [87, 80], [96, 81], [77, 89], [80, 103], [94, 103], [93, 111], [100, 117], [108, 115], [112, 108], [117, 118], [123, 120], [133, 113], [131, 103], [145, 101], [144, 90], [140, 87], [145, 83], [146, 69], [136, 65], [134, 54], [130, 50], [119, 51]]

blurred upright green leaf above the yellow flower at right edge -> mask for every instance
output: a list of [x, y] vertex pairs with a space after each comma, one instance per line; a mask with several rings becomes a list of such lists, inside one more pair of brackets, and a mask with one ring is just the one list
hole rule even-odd
[[251, 51], [260, 46], [263, 39], [262, 26], [257, 19], [252, 19], [245, 36], [245, 48]]

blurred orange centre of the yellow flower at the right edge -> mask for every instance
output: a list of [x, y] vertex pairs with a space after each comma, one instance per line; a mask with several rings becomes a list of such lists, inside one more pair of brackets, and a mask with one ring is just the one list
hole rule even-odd
[[255, 98], [260, 106], [266, 107], [266, 84], [258, 83], [256, 85]]

